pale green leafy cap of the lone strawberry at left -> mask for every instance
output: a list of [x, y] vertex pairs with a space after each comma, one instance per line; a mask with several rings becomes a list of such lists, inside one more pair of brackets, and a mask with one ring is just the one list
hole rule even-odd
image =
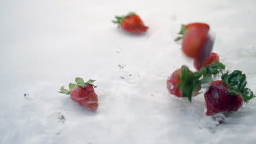
[[68, 85], [68, 88], [69, 88], [69, 89], [66, 89], [64, 86], [62, 86], [62, 87], [60, 88], [60, 92], [59, 92], [59, 93], [65, 93], [66, 95], [68, 95], [68, 94], [71, 93], [71, 91], [72, 91], [72, 89], [73, 89], [74, 87], [81, 86], [81, 87], [83, 87], [83, 88], [86, 88], [86, 87], [87, 87], [86, 84], [89, 84], [89, 85], [91, 85], [91, 86], [94, 86], [94, 85], [92, 84], [94, 81], [95, 81], [95, 80], [91, 80], [91, 79], [90, 79], [89, 81], [84, 82], [84, 80], [83, 80], [82, 78], [77, 77], [77, 78], [75, 78], [76, 84], [74, 84], [74, 83], [69, 83], [69, 85]]

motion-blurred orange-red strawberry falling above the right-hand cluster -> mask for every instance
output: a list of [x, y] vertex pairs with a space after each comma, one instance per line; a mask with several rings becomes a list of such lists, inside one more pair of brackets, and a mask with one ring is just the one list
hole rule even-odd
[[188, 57], [203, 61], [212, 51], [213, 39], [208, 35], [210, 26], [206, 23], [190, 23], [182, 25], [179, 34], [183, 37], [178, 37], [175, 41], [182, 40], [182, 51]]

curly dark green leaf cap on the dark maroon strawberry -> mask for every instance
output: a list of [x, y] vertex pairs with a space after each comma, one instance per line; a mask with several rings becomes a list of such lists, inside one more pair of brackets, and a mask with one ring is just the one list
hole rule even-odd
[[222, 75], [222, 81], [225, 83], [225, 85], [229, 86], [228, 92], [230, 94], [238, 95], [241, 93], [245, 103], [255, 97], [251, 89], [246, 88], [246, 75], [242, 74], [242, 71], [240, 70], [234, 70], [231, 74], [229, 74], [229, 71], [227, 71]]

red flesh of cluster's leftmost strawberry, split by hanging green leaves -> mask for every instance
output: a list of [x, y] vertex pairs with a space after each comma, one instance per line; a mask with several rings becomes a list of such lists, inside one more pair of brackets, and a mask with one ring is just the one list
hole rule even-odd
[[[192, 74], [192, 71], [189, 71], [190, 74]], [[170, 92], [170, 94], [176, 95], [177, 97], [185, 97], [185, 95], [182, 95], [180, 84], [184, 81], [182, 81], [182, 68], [175, 70], [170, 77], [168, 77], [166, 81], [167, 89]], [[201, 88], [197, 88], [196, 91], [192, 92], [192, 96], [196, 96], [199, 94], [199, 90]]]

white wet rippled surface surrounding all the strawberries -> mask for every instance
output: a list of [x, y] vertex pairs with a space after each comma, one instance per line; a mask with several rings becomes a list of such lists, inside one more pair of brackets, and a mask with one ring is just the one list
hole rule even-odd
[[[0, 143], [256, 143], [256, 99], [219, 114], [225, 123], [217, 127], [203, 93], [190, 104], [166, 89], [182, 64], [195, 70], [173, 41], [181, 24], [206, 22], [220, 61], [242, 70], [256, 92], [255, 7], [253, 0], [2, 0]], [[111, 22], [129, 11], [146, 34]], [[75, 77], [96, 79], [96, 112], [57, 93]]]

